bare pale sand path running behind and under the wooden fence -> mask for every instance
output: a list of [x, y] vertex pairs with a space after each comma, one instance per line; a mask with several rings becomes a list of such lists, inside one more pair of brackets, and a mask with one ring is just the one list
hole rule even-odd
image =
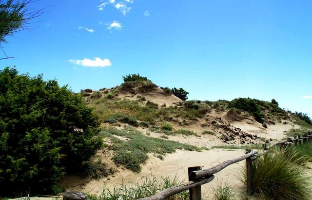
[[[163, 176], [179, 177], [180, 180], [187, 180], [187, 169], [190, 166], [202, 166], [202, 168], [210, 168], [216, 164], [244, 154], [244, 150], [222, 150], [213, 149], [203, 152], [190, 152], [185, 150], [177, 150], [176, 153], [166, 155], [164, 160], [159, 160], [152, 155], [149, 155], [148, 162], [142, 167], [142, 172], [139, 174], [133, 173], [130, 170], [122, 170], [115, 173], [115, 177], [101, 180], [81, 180], [76, 176], [68, 176], [63, 184], [67, 187], [66, 191], [84, 191], [92, 194], [100, 195], [103, 188], [112, 190], [114, 186], [128, 181], [136, 181], [148, 174], [161, 174]], [[215, 175], [215, 180], [202, 186], [202, 191], [205, 191], [204, 199], [212, 199], [212, 189], [217, 182], [228, 180], [231, 186], [241, 196], [243, 191], [242, 183], [236, 179], [239, 175], [238, 170], [244, 164], [244, 161], [235, 163]], [[86, 183], [87, 182], [87, 183]], [[86, 184], [84, 184], [86, 183]]]

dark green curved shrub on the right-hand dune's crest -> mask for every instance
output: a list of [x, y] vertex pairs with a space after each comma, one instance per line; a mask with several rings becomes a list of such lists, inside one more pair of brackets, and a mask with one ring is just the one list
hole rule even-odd
[[238, 98], [234, 99], [229, 103], [229, 107], [234, 107], [240, 110], [244, 110], [252, 115], [256, 121], [262, 123], [264, 115], [262, 114], [259, 106], [255, 103], [254, 100], [249, 98]]

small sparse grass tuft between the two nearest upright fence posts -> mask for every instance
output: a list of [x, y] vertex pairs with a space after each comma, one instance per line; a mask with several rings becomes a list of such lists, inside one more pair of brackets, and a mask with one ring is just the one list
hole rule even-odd
[[217, 186], [213, 188], [215, 200], [235, 200], [235, 192], [230, 187], [228, 181], [224, 183], [218, 182]]

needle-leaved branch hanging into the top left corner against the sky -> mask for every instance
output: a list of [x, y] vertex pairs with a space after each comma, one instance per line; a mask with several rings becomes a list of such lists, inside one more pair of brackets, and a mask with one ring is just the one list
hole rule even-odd
[[[27, 29], [30, 20], [39, 17], [42, 10], [30, 12], [26, 8], [32, 2], [32, 0], [0, 0], [0, 44], [6, 42], [7, 36]], [[7, 58], [6, 56], [3, 59]]]

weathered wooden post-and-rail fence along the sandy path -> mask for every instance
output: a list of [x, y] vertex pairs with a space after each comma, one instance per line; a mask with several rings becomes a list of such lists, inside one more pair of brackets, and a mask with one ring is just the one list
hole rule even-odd
[[[269, 149], [274, 146], [279, 146], [280, 149], [282, 148], [289, 148], [292, 145], [301, 145], [308, 143], [309, 141], [312, 141], [312, 133], [305, 134], [303, 136], [294, 136], [287, 137], [287, 140], [283, 141], [277, 141], [269, 146], [267, 146], [266, 143], [263, 144], [262, 148], [263, 151], [261, 153], [258, 153], [257, 151], [252, 151], [251, 149], [246, 149], [245, 155], [231, 159], [226, 160], [220, 164], [215, 165], [212, 168], [209, 169], [201, 169], [200, 166], [195, 167], [189, 167], [188, 168], [188, 177], [189, 181], [186, 183], [183, 183], [181, 185], [176, 185], [174, 187], [165, 189], [163, 191], [158, 192], [156, 195], [143, 198], [141, 200], [164, 200], [168, 197], [171, 197], [175, 194], [178, 194], [180, 192], [189, 190], [190, 192], [190, 200], [201, 200], [202, 194], [201, 194], [201, 185], [211, 182], [214, 180], [217, 172], [221, 171], [222, 169], [226, 168], [227, 166], [234, 164], [236, 162], [240, 162], [242, 160], [246, 160], [246, 170], [247, 170], [247, 193], [252, 194], [252, 161], [256, 160], [258, 157], [265, 155], [268, 153]], [[63, 199], [64, 200], [85, 200], [87, 199], [86, 194], [79, 193], [79, 192], [66, 192], [63, 193]]]

